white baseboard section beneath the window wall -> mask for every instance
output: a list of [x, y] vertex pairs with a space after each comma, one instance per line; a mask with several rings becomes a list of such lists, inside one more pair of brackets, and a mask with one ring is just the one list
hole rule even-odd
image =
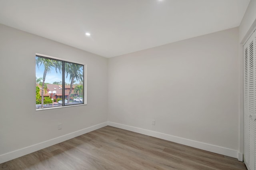
[[93, 130], [97, 130], [98, 128], [102, 128], [102, 127], [105, 127], [107, 125], [108, 125], [107, 122], [100, 123], [100, 124], [94, 125], [92, 127], [84, 128], [84, 129], [78, 130], [76, 132], [65, 134], [65, 135], [59, 136], [57, 138], [46, 140], [46, 141], [38, 143], [38, 144], [34, 144], [34, 145], [31, 145], [31, 146], [28, 146], [28, 147], [25, 147], [25, 148], [21, 148], [21, 149], [18, 149], [18, 150], [14, 150], [12, 152], [8, 152], [6, 154], [2, 154], [2, 155], [0, 155], [0, 164], [3, 163], [3, 162], [9, 161], [9, 160], [18, 158], [20, 156], [24, 156], [26, 154], [30, 154], [30, 153], [35, 152], [37, 150], [40, 150], [40, 149], [52, 146], [54, 144], [58, 144], [60, 142], [64, 142], [65, 140], [74, 138], [76, 136], [80, 136], [82, 134], [91, 132]]

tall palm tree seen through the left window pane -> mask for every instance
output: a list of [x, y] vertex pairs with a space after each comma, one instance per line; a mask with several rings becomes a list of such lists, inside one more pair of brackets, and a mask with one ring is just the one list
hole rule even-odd
[[55, 68], [56, 73], [58, 73], [57, 69], [61, 71], [61, 62], [53, 59], [44, 58], [44, 57], [36, 57], [36, 65], [38, 69], [40, 68], [41, 65], [44, 65], [42, 93], [41, 93], [41, 101], [42, 101], [41, 107], [44, 108], [44, 89], [45, 89], [44, 82], [45, 82], [46, 74], [50, 73], [52, 68]]

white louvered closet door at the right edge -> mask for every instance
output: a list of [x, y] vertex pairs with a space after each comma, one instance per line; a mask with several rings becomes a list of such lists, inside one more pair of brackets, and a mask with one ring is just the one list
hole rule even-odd
[[256, 170], [256, 31], [244, 44], [244, 162]]

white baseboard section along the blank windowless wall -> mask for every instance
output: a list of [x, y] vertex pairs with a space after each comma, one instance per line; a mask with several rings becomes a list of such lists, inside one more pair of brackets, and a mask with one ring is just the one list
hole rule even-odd
[[168, 140], [168, 141], [171, 141], [171, 142], [176, 142], [176, 143], [179, 143], [179, 144], [192, 146], [194, 148], [207, 150], [207, 151], [214, 152], [214, 153], [217, 153], [217, 154], [230, 156], [230, 157], [237, 158], [238, 160], [242, 161], [241, 160], [242, 154], [238, 153], [238, 150], [232, 150], [232, 149], [224, 148], [224, 147], [221, 147], [221, 146], [216, 146], [216, 145], [212, 145], [212, 144], [198, 142], [198, 141], [190, 140], [190, 139], [186, 139], [186, 138], [180, 138], [178, 136], [172, 136], [172, 135], [169, 135], [169, 134], [164, 134], [164, 133], [155, 132], [155, 131], [152, 131], [152, 130], [147, 130], [147, 129], [138, 128], [138, 127], [132, 127], [132, 126], [123, 125], [123, 124], [114, 123], [114, 122], [108, 122], [108, 125], [112, 126], [112, 127], [116, 127], [116, 128], [122, 128], [122, 129], [125, 129], [125, 130], [130, 130], [132, 132], [146, 134], [148, 136], [153, 136], [153, 137]]

